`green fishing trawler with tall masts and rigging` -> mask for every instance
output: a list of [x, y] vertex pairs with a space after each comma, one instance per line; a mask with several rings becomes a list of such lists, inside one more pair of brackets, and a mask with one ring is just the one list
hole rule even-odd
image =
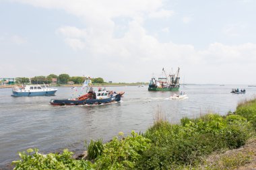
[[180, 68], [176, 74], [166, 75], [164, 68], [162, 69], [163, 75], [165, 77], [159, 77], [158, 80], [156, 78], [152, 78], [150, 81], [150, 85], [148, 87], [148, 91], [179, 91], [180, 87], [180, 77], [179, 77]]

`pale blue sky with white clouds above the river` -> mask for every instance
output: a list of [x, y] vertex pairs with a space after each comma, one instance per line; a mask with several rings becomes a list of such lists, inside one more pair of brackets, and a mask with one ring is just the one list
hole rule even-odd
[[0, 77], [256, 84], [254, 0], [0, 0]]

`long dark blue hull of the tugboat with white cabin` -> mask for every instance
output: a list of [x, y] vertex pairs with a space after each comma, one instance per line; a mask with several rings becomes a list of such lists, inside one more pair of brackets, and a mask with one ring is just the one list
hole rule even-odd
[[51, 99], [51, 105], [99, 105], [104, 103], [112, 103], [120, 101], [121, 95], [117, 94], [107, 99], [84, 99], [84, 100], [71, 100], [71, 99]]

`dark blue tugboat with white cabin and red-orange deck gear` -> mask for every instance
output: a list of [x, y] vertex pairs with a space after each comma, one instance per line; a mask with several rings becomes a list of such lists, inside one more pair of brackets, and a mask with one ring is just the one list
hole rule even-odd
[[50, 103], [51, 105], [99, 105], [120, 101], [123, 93], [106, 90], [93, 91], [91, 88], [88, 93], [75, 99], [51, 99]]

